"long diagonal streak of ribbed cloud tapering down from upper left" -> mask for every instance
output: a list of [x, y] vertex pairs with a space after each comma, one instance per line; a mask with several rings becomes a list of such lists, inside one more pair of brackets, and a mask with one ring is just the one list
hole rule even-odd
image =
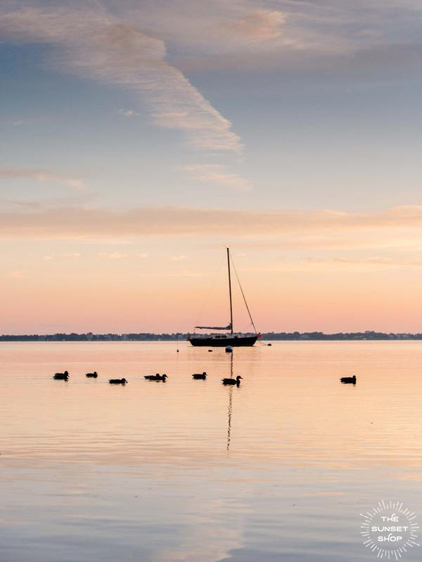
[[0, 37], [59, 47], [60, 68], [141, 94], [155, 124], [184, 131], [205, 150], [240, 153], [241, 139], [202, 93], [165, 60], [165, 44], [101, 11], [34, 7], [0, 11]]

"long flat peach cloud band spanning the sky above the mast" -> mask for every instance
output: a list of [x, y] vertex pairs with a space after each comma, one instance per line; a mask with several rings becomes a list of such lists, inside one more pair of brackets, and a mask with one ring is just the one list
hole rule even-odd
[[[0, 213], [1, 238], [125, 240], [230, 235], [250, 247], [422, 247], [422, 207], [378, 213], [143, 207], [51, 207]], [[240, 246], [239, 246], [240, 248]], [[117, 252], [117, 255], [120, 255]]]

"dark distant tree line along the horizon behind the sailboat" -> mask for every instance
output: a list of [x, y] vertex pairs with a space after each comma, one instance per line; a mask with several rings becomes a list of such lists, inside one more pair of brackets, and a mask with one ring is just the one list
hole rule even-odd
[[[28, 334], [28, 335], [3, 335], [0, 341], [179, 341], [186, 340], [188, 334], [152, 334], [141, 332], [139, 334]], [[366, 340], [366, 339], [422, 339], [422, 334], [409, 333], [384, 333], [384, 332], [338, 332], [337, 334], [324, 334], [324, 332], [265, 332], [261, 339], [264, 340]]]

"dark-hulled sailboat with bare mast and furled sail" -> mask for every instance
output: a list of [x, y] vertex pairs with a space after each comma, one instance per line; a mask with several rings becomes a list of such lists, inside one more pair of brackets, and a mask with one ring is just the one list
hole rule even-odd
[[[231, 300], [231, 270], [230, 270], [230, 249], [226, 248], [227, 250], [227, 270], [229, 274], [229, 301], [230, 301], [230, 323], [227, 326], [219, 327], [219, 326], [195, 326], [195, 329], [212, 329], [212, 330], [224, 330], [226, 333], [212, 333], [212, 334], [188, 334], [188, 341], [191, 342], [193, 346], [202, 346], [202, 347], [239, 347], [239, 346], [253, 346], [255, 341], [260, 337], [261, 334], [257, 334], [255, 325], [252, 320], [252, 316], [250, 315], [248, 303], [245, 299], [245, 294], [243, 294], [242, 286], [239, 282], [239, 287], [241, 287], [241, 292], [243, 296], [243, 301], [245, 301], [246, 310], [248, 311], [250, 321], [252, 322], [252, 326], [255, 329], [255, 334], [253, 335], [245, 335], [241, 333], [235, 333], [233, 329], [233, 303]], [[236, 268], [235, 268], [236, 273]], [[237, 277], [237, 273], [236, 273]]]

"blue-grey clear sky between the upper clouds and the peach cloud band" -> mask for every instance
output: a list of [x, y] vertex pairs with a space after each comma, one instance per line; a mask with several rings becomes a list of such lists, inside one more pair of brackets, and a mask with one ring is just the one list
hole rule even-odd
[[[2, 51], [8, 166], [87, 176], [107, 204], [219, 206], [221, 189], [198, 189], [180, 169], [181, 161], [212, 164], [217, 156], [190, 150], [180, 131], [153, 126], [139, 96], [59, 72], [49, 46]], [[242, 157], [218, 160], [252, 183], [242, 207], [254, 207], [259, 195], [262, 207], [364, 210], [421, 203], [421, 79], [414, 67], [407, 74], [376, 65], [357, 74], [231, 67], [189, 78], [243, 139]], [[238, 207], [238, 197], [225, 199]]]

